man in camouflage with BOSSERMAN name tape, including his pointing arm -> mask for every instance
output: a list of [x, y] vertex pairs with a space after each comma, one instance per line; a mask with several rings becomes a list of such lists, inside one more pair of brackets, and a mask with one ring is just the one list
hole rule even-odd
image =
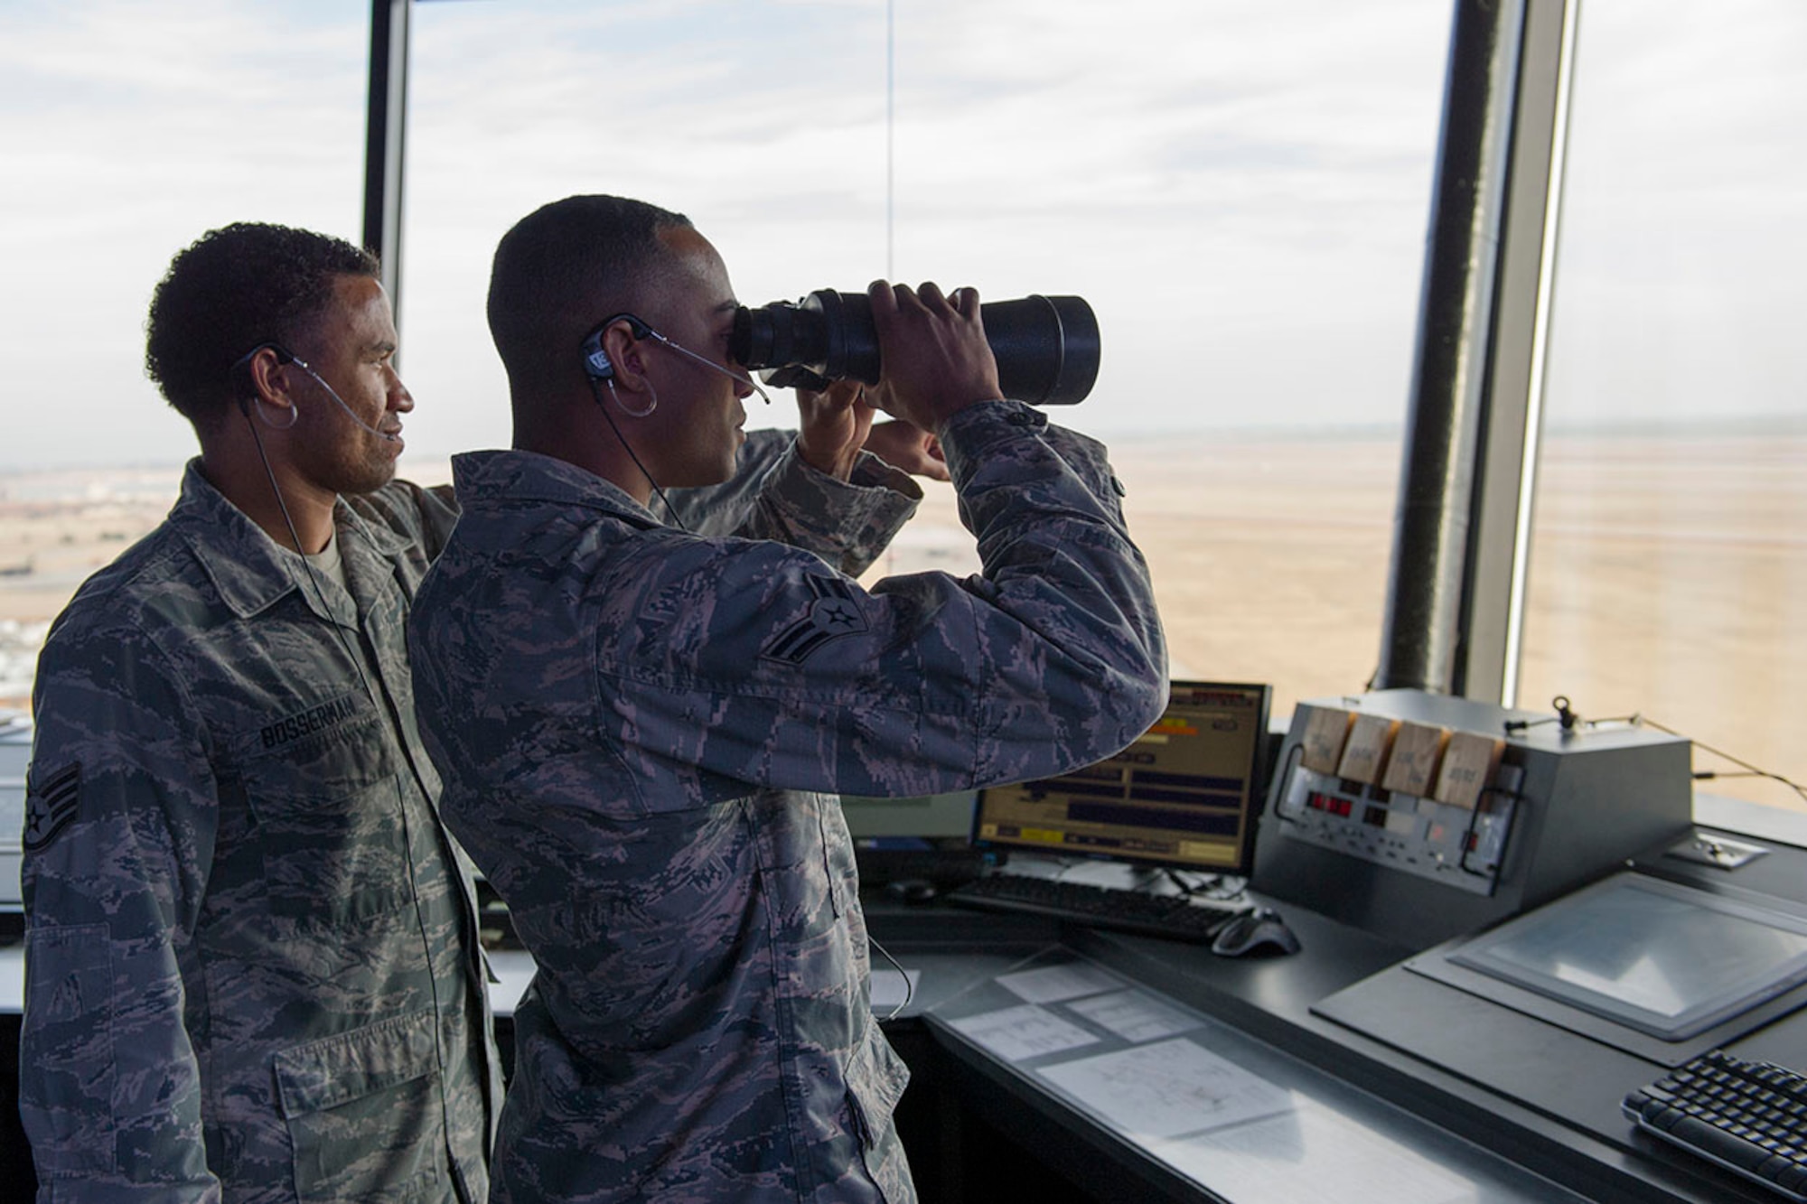
[[[146, 367], [201, 456], [34, 687], [20, 1112], [49, 1199], [486, 1199], [499, 1063], [403, 626], [457, 508], [394, 479], [396, 342], [376, 260], [304, 230], [210, 231], [157, 286]], [[871, 559], [918, 494], [799, 454], [851, 434], [761, 432], [726, 497], [672, 501]]]

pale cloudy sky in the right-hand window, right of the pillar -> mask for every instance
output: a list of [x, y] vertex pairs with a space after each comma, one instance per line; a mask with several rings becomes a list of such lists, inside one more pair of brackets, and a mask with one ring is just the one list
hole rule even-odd
[[1802, 45], [1793, 4], [1583, 9], [1554, 423], [1800, 412]]

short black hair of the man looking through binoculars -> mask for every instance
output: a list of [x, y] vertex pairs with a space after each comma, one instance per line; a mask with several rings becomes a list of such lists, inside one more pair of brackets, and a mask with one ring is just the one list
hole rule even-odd
[[515, 222], [490, 266], [490, 336], [515, 383], [580, 372], [578, 345], [604, 318], [632, 311], [669, 255], [660, 231], [683, 213], [627, 197], [553, 201]]

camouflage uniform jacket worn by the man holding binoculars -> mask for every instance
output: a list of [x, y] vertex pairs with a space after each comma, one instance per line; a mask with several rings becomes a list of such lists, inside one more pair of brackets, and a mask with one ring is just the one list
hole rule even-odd
[[455, 461], [410, 618], [446, 823], [538, 974], [497, 1204], [911, 1200], [837, 801], [1109, 756], [1166, 645], [1097, 443], [1016, 403], [943, 432], [985, 573], [862, 591], [661, 526], [557, 459]]

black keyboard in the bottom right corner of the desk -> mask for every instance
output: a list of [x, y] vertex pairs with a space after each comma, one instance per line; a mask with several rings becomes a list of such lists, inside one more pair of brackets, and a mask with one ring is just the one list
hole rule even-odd
[[1794, 1070], [1715, 1050], [1621, 1108], [1652, 1137], [1807, 1204], [1807, 1077]]

